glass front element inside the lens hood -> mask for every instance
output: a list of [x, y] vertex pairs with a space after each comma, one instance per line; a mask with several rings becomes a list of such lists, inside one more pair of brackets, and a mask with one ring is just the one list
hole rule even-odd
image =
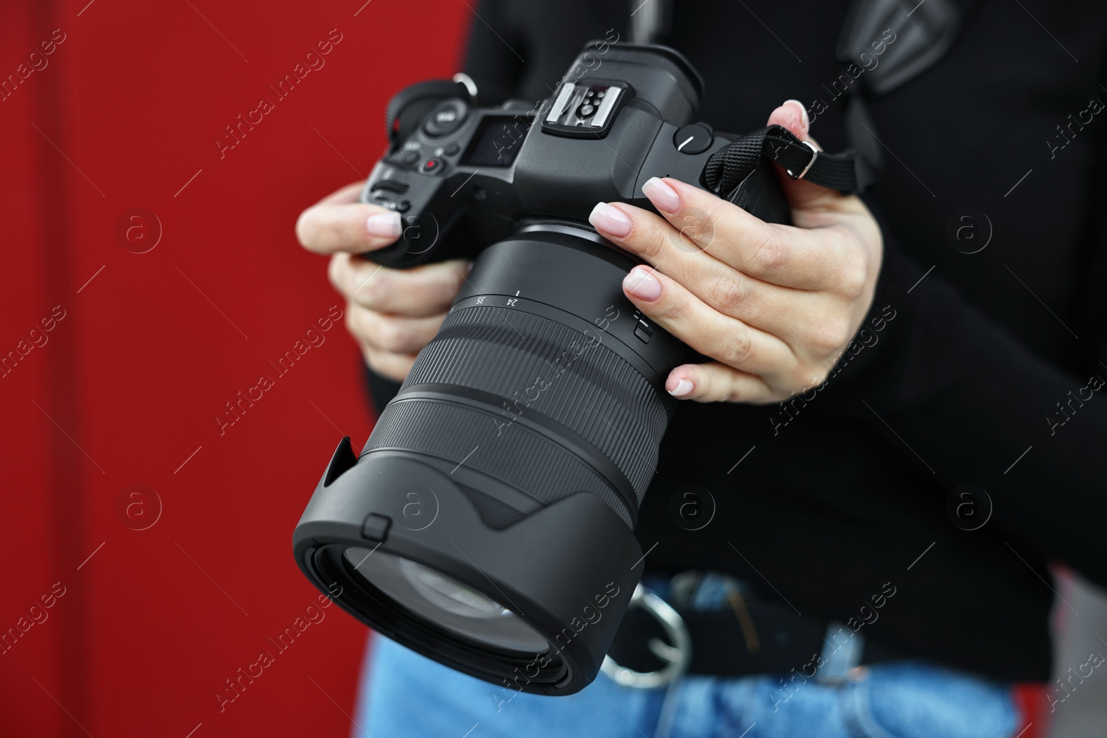
[[370, 584], [436, 625], [499, 648], [534, 654], [549, 647], [517, 614], [453, 576], [385, 551], [351, 547], [342, 555]]

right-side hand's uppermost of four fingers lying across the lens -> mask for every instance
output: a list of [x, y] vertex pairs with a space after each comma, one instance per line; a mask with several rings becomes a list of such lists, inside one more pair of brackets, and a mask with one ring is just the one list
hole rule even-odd
[[[851, 267], [856, 257], [848, 239], [834, 229], [767, 224], [676, 179], [653, 177], [642, 191], [699, 248], [764, 282], [801, 290], [828, 289], [837, 283], [836, 274]], [[834, 222], [829, 214], [825, 217], [824, 226]]]

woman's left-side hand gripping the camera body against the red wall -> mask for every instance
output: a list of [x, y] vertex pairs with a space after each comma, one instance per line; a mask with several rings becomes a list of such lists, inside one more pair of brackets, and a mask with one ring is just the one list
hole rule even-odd
[[345, 298], [346, 330], [370, 368], [402, 382], [445, 320], [469, 262], [400, 270], [358, 256], [394, 243], [401, 232], [399, 214], [359, 201], [363, 186], [343, 187], [301, 212], [296, 235], [307, 250], [331, 254], [331, 284]]

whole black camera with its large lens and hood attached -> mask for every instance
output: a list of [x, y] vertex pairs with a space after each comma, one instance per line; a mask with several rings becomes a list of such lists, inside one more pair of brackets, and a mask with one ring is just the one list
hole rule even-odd
[[362, 200], [400, 212], [403, 235], [364, 256], [475, 261], [293, 533], [303, 573], [381, 634], [524, 692], [569, 695], [599, 672], [643, 570], [633, 529], [676, 405], [665, 377], [696, 354], [635, 312], [621, 282], [642, 261], [588, 215], [653, 209], [642, 185], [668, 176], [788, 222], [767, 158], [725, 191], [707, 176], [735, 137], [696, 122], [702, 94], [671, 49], [592, 42], [537, 105], [480, 107], [467, 80], [390, 103]]

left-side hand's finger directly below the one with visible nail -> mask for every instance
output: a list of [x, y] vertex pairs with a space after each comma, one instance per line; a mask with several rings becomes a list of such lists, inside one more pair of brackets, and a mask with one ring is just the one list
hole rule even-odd
[[363, 308], [417, 318], [448, 310], [468, 268], [468, 261], [452, 259], [389, 269], [362, 257], [335, 253], [328, 276], [335, 290]]

